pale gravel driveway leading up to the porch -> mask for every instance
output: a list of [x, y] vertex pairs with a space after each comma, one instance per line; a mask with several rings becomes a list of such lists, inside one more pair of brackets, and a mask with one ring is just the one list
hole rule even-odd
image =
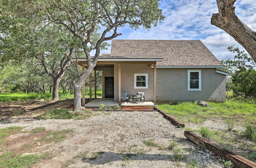
[[0, 128], [73, 130], [68, 139], [49, 146], [53, 158], [34, 167], [224, 167], [157, 111], [93, 113], [86, 120], [23, 119], [0, 124]]

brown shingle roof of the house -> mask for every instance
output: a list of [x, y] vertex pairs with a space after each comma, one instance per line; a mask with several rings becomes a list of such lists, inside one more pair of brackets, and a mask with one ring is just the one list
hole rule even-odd
[[99, 58], [163, 58], [157, 66], [223, 66], [200, 40], [112, 40]]

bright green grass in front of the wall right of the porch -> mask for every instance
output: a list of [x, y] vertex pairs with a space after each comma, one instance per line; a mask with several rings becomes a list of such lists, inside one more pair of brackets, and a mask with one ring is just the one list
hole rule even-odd
[[244, 123], [256, 121], [256, 99], [231, 99], [208, 104], [208, 107], [201, 107], [196, 102], [182, 102], [178, 105], [161, 104], [158, 107], [185, 122], [201, 123], [212, 118], [236, 118], [236, 121]]

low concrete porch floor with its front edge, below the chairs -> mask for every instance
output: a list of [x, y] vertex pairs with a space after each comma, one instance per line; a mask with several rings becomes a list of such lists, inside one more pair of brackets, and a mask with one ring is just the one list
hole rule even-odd
[[[111, 106], [115, 107], [119, 105], [118, 101], [114, 101], [114, 98], [102, 98], [102, 99], [94, 99], [91, 102], [88, 102], [84, 105], [86, 108], [98, 108], [100, 104], [104, 104], [105, 106]], [[128, 108], [153, 108], [154, 103], [152, 101], [145, 101], [144, 103], [141, 102], [121, 102], [120, 105], [122, 108], [128, 109]]]

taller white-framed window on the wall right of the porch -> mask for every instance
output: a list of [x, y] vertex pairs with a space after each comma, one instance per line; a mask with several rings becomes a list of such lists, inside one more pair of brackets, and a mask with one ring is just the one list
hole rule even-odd
[[201, 91], [201, 70], [187, 71], [187, 90]]

